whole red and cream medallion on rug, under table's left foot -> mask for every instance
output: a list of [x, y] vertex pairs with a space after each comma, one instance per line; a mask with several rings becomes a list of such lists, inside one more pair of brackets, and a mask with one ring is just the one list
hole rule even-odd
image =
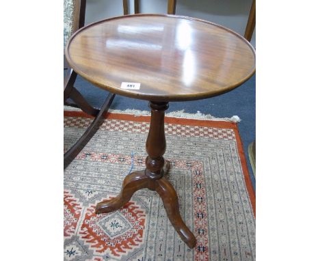
[[144, 242], [146, 213], [131, 200], [124, 208], [96, 215], [95, 206], [85, 213], [79, 234], [96, 254], [111, 258], [137, 252]]

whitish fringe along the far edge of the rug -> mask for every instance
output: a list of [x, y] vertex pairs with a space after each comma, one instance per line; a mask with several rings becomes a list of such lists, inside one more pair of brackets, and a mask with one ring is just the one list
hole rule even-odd
[[[81, 111], [79, 108], [70, 107], [64, 105], [64, 111]], [[150, 111], [140, 111], [137, 109], [109, 109], [110, 113], [122, 113], [122, 114], [130, 114], [135, 116], [150, 116]], [[214, 120], [214, 121], [223, 121], [223, 122], [240, 122], [241, 119], [237, 115], [233, 115], [231, 118], [217, 118], [211, 114], [203, 114], [200, 111], [197, 113], [186, 113], [185, 110], [181, 111], [171, 111], [169, 113], [165, 113], [166, 116], [172, 118], [185, 118], [192, 120]]]

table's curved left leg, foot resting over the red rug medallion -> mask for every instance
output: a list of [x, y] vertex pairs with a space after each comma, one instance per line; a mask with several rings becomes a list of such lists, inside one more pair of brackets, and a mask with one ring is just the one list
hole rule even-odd
[[108, 213], [122, 208], [129, 202], [135, 191], [146, 187], [148, 187], [148, 177], [144, 174], [144, 171], [135, 171], [129, 174], [124, 178], [122, 189], [117, 197], [99, 202], [96, 205], [96, 214]]

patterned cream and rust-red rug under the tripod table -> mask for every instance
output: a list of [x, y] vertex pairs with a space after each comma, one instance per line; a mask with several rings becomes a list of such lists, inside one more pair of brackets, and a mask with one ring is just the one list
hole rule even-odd
[[[92, 121], [65, 111], [64, 149]], [[189, 249], [155, 191], [137, 191], [116, 212], [95, 215], [124, 176], [144, 169], [150, 117], [109, 113], [64, 171], [64, 260], [255, 260], [255, 196], [233, 122], [166, 118], [167, 174], [194, 232]]]

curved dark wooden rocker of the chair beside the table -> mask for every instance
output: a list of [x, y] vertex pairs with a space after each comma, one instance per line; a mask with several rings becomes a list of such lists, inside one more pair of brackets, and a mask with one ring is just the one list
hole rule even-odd
[[114, 96], [116, 94], [109, 94], [101, 107], [101, 110], [98, 111], [98, 115], [94, 121], [90, 124], [90, 126], [85, 130], [85, 133], [78, 139], [78, 141], [64, 154], [64, 169], [68, 167], [68, 165], [75, 159], [77, 154], [81, 152], [84, 146], [90, 141], [90, 139], [94, 136], [98, 128], [101, 126], [104, 120], [104, 116], [107, 113], [109, 107], [111, 106], [112, 101], [114, 100]]

